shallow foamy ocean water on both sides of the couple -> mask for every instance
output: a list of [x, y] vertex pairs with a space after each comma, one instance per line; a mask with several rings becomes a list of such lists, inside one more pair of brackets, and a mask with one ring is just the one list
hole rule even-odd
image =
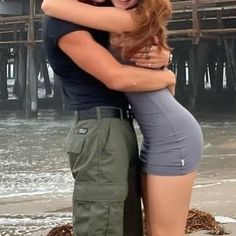
[[[70, 212], [14, 212], [8, 206], [16, 202], [27, 203], [30, 208], [34, 200], [71, 198], [73, 179], [63, 145], [72, 114], [42, 110], [37, 119], [25, 120], [20, 112], [0, 112], [0, 235], [28, 236], [71, 222]], [[236, 183], [236, 114], [204, 113], [196, 117], [205, 143], [194, 188]]]

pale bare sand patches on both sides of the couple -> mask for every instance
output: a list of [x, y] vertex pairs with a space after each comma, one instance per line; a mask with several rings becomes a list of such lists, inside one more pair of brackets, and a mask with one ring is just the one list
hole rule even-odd
[[[213, 216], [224, 216], [236, 219], [236, 181], [223, 182], [213, 186], [198, 187], [195, 185], [192, 195], [191, 208], [206, 211]], [[44, 201], [34, 200], [31, 202], [31, 209], [26, 209], [28, 203], [11, 203], [8, 205], [8, 213], [11, 211], [19, 211], [34, 214], [38, 213], [40, 207], [41, 212], [71, 212], [70, 199], [57, 199], [53, 202], [50, 199]], [[6, 209], [0, 210], [6, 212]], [[68, 222], [65, 222], [68, 223]], [[223, 224], [225, 229], [231, 232], [232, 236], [236, 235], [236, 223]], [[40, 230], [32, 234], [32, 236], [45, 236], [51, 228]], [[207, 231], [199, 231], [192, 233], [192, 236], [204, 236]]]

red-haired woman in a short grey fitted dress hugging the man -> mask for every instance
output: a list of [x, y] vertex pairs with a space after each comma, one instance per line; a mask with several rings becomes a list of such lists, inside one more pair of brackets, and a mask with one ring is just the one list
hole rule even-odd
[[[123, 9], [136, 4], [135, 0], [112, 2]], [[126, 11], [94, 7], [77, 0], [44, 0], [43, 10], [63, 20], [119, 34], [113, 42], [121, 48], [123, 59], [147, 43], [151, 45], [154, 36], [158, 37], [160, 47], [168, 48], [166, 23], [171, 13], [168, 0], [144, 0]], [[148, 52], [145, 56], [149, 56]], [[127, 97], [144, 138], [140, 160], [147, 234], [183, 236], [202, 153], [201, 129], [167, 89], [127, 93]]]

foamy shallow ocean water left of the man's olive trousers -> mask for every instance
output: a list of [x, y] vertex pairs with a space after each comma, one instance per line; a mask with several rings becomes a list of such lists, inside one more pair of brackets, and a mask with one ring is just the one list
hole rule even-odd
[[[58, 198], [71, 198], [73, 179], [64, 152], [64, 140], [71, 116], [43, 111], [37, 119], [25, 120], [24, 114], [0, 113], [0, 235], [31, 235], [65, 222], [71, 213], [30, 214], [8, 205]], [[2, 209], [7, 209], [1, 210]], [[25, 212], [25, 211], [24, 211]], [[27, 212], [27, 211], [26, 211]]]

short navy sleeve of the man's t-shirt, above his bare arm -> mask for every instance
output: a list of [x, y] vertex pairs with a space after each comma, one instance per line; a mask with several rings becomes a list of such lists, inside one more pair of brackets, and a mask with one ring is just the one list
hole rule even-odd
[[87, 28], [81, 25], [76, 25], [64, 20], [45, 16], [43, 20], [44, 33], [47, 34], [47, 38], [50, 39], [55, 45], [57, 45], [58, 39], [62, 36], [78, 30], [86, 30]]

